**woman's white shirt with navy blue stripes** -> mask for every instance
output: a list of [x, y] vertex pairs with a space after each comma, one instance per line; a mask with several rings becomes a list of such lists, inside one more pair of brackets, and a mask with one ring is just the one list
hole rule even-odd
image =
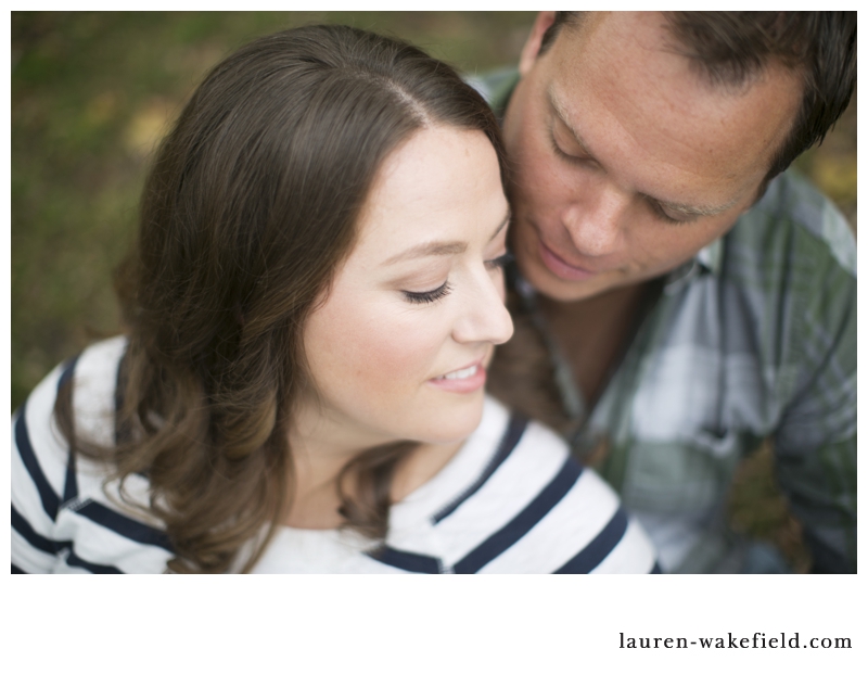
[[[161, 573], [159, 522], [125, 506], [105, 469], [71, 458], [52, 410], [73, 378], [77, 430], [111, 444], [126, 347], [115, 338], [58, 367], [13, 419], [12, 565], [25, 573]], [[130, 475], [135, 503], [148, 481]], [[255, 573], [648, 573], [652, 546], [617, 496], [536, 423], [486, 399], [483, 420], [429, 482], [392, 507], [385, 542], [281, 527]]]

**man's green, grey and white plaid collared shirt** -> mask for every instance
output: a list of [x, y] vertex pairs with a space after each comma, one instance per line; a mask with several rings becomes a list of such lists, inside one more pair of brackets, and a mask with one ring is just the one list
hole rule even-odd
[[[516, 81], [508, 69], [471, 84], [502, 118]], [[533, 289], [520, 278], [514, 288], [533, 310]], [[607, 447], [598, 470], [646, 526], [664, 570], [741, 568], [726, 498], [739, 461], [771, 438], [816, 569], [855, 572], [856, 242], [795, 173], [663, 279], [593, 409], [566, 360], [550, 356], [577, 421], [567, 440], [579, 457]]]

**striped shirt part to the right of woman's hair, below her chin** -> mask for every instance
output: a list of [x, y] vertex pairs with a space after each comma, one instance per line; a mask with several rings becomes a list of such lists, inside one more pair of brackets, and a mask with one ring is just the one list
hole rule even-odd
[[487, 399], [429, 483], [392, 508], [385, 545], [282, 530], [261, 573], [659, 573], [651, 544], [554, 433]]

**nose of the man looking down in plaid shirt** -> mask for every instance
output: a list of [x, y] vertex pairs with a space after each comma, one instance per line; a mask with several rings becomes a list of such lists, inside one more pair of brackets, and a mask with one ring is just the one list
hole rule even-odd
[[576, 250], [591, 257], [616, 253], [629, 199], [613, 186], [597, 185], [574, 199], [561, 214], [561, 221]]

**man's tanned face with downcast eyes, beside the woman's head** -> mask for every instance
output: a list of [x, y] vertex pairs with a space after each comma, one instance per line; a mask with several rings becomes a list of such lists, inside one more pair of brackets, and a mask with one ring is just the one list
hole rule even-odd
[[544, 54], [544, 13], [503, 123], [514, 164], [512, 249], [554, 300], [658, 277], [754, 202], [801, 84], [780, 66], [712, 87], [674, 53], [664, 18], [590, 15]]

